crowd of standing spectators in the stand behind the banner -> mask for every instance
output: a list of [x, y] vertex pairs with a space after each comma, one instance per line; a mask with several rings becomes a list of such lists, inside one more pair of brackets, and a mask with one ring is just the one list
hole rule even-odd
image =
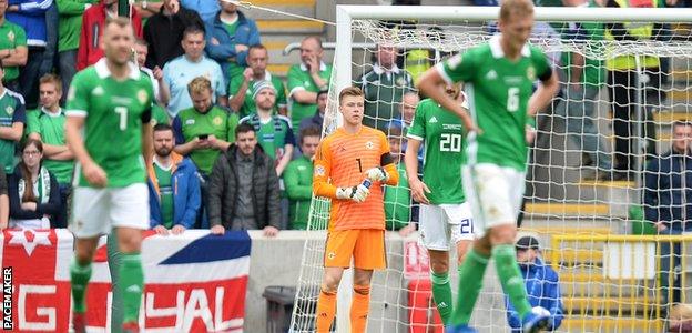
[[[61, 104], [77, 72], [99, 65], [103, 24], [115, 16], [116, 0], [0, 0], [0, 228], [67, 228], [75, 163]], [[283, 81], [267, 71], [257, 26], [234, 1], [143, 1], [130, 18], [133, 65], [155, 95], [151, 228], [306, 229], [332, 77], [320, 39], [302, 41], [301, 63]], [[390, 132], [400, 160], [418, 95], [396, 58], [378, 48], [358, 84], [368, 100], [381, 99], [368, 117]], [[391, 84], [384, 91], [378, 80]], [[389, 228], [409, 233], [407, 185], [386, 195]]]

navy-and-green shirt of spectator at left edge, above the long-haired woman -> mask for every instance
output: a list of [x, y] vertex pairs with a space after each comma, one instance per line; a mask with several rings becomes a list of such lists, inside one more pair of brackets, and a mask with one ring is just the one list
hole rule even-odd
[[[0, 127], [11, 128], [16, 122], [27, 123], [24, 99], [21, 94], [6, 88], [0, 94]], [[17, 142], [0, 139], [0, 165], [4, 167], [7, 174], [14, 171], [16, 147]]]

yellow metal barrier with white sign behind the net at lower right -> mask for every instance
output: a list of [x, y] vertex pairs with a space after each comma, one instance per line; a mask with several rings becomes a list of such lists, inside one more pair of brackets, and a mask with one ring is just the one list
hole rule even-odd
[[[685, 303], [686, 245], [692, 243], [692, 235], [618, 235], [618, 234], [571, 234], [551, 235], [551, 251], [547, 259], [558, 272], [563, 284], [571, 286], [569, 294], [562, 295], [566, 305], [566, 320], [561, 330], [568, 332], [661, 332], [664, 317], [661, 312], [660, 255], [661, 244], [681, 244], [681, 302]], [[645, 254], [648, 246], [655, 246], [654, 258]], [[606, 246], [614, 250], [613, 264], [615, 279], [606, 272]], [[612, 248], [617, 246], [617, 248]], [[633, 249], [640, 249], [635, 251]], [[651, 249], [651, 248], [649, 248]], [[584, 255], [590, 251], [591, 255]], [[629, 251], [629, 252], [628, 252]], [[625, 253], [627, 252], [627, 253]], [[641, 253], [639, 253], [641, 252]], [[672, 252], [672, 250], [671, 250]], [[563, 259], [562, 254], [580, 253], [578, 259]], [[637, 258], [641, 255], [641, 258]], [[654, 271], [649, 270], [654, 260]], [[669, 286], [673, 285], [673, 256]], [[601, 265], [601, 262], [603, 264]], [[562, 264], [564, 263], [564, 264]], [[643, 268], [644, 271], [637, 270]], [[599, 271], [600, 270], [600, 271]], [[611, 272], [613, 272], [611, 270]], [[629, 272], [630, 276], [623, 276]], [[643, 276], [637, 276], [643, 275]], [[648, 276], [653, 275], [653, 279]], [[572, 279], [587, 276], [588, 279]], [[564, 278], [564, 279], [563, 279]], [[672, 287], [669, 287], [669, 294]], [[670, 295], [668, 297], [670, 303]]]

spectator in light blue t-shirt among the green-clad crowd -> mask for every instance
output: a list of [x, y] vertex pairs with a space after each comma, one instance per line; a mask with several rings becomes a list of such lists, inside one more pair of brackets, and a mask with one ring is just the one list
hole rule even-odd
[[212, 102], [228, 105], [226, 87], [218, 63], [204, 56], [204, 30], [190, 26], [183, 32], [182, 41], [185, 54], [177, 57], [163, 67], [163, 80], [171, 91], [169, 114], [175, 118], [181, 110], [192, 107], [187, 84], [194, 78], [205, 77], [211, 81]]

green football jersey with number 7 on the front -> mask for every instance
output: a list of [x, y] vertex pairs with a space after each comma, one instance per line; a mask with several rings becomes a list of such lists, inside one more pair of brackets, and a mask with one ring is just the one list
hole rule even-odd
[[[144, 183], [142, 123], [151, 119], [151, 79], [131, 64], [124, 81], [111, 77], [106, 60], [77, 73], [68, 93], [68, 117], [85, 117], [86, 152], [105, 171], [109, 188]], [[78, 185], [91, 186], [80, 172]]]

